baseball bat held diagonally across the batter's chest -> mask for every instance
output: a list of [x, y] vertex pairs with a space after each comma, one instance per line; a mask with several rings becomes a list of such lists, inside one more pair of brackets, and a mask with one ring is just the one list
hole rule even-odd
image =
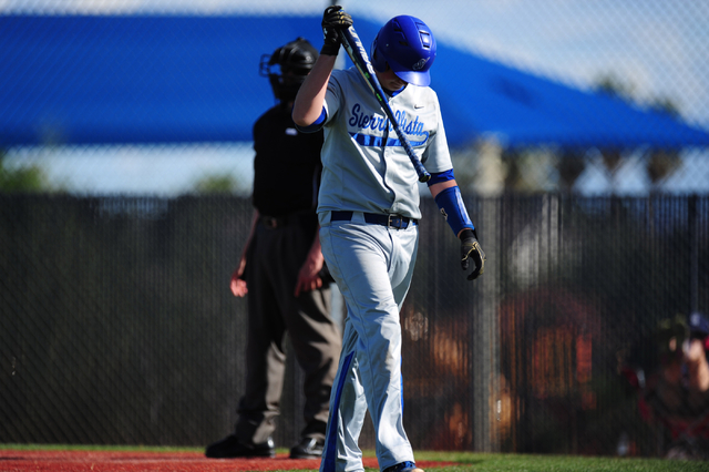
[[411, 144], [407, 138], [407, 135], [403, 134], [403, 131], [401, 131], [401, 127], [399, 126], [399, 123], [394, 117], [394, 112], [391, 110], [391, 106], [389, 106], [389, 102], [384, 96], [384, 91], [379, 84], [379, 80], [377, 80], [377, 74], [374, 73], [374, 69], [372, 68], [372, 64], [369, 62], [369, 58], [367, 57], [367, 51], [364, 51], [364, 48], [362, 47], [362, 41], [357, 35], [357, 32], [354, 31], [353, 27], [349, 27], [348, 29], [341, 29], [340, 31], [342, 33], [342, 47], [345, 48], [345, 51], [347, 51], [347, 55], [350, 57], [350, 59], [352, 60], [352, 63], [354, 64], [359, 73], [364, 78], [364, 80], [367, 81], [367, 84], [369, 85], [372, 93], [377, 98], [377, 102], [379, 102], [382, 110], [389, 117], [389, 121], [391, 122], [391, 126], [394, 129], [397, 136], [399, 136], [399, 141], [401, 141], [401, 145], [403, 146], [404, 151], [409, 155], [409, 158], [411, 160], [411, 164], [413, 164], [413, 168], [417, 171], [417, 174], [419, 175], [419, 182], [428, 182], [431, 178], [431, 174], [429, 174], [429, 172], [425, 170], [425, 167], [423, 166], [423, 164], [421, 163], [417, 154], [413, 152], [413, 147], [411, 147]]

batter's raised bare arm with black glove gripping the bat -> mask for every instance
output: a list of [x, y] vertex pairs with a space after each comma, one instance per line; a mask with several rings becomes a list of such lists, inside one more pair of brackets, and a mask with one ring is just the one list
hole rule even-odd
[[292, 121], [302, 127], [316, 122], [322, 113], [325, 93], [342, 42], [339, 30], [352, 25], [352, 17], [341, 7], [328, 7], [322, 14], [325, 37], [320, 55], [298, 91], [292, 107]]

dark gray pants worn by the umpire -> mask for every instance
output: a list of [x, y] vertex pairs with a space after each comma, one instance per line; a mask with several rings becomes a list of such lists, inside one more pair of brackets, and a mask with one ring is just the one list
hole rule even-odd
[[276, 429], [286, 369], [286, 332], [305, 372], [306, 427], [301, 437], [325, 438], [341, 335], [330, 317], [329, 288], [294, 296], [316, 230], [315, 215], [295, 222], [290, 218], [276, 228], [261, 223], [256, 227], [246, 265], [246, 390], [235, 431], [243, 443], [263, 443]]

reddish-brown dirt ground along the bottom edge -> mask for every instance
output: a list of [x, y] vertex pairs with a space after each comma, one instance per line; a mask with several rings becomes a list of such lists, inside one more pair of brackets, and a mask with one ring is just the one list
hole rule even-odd
[[[366, 468], [378, 469], [377, 459], [364, 458]], [[418, 461], [423, 469], [449, 462]], [[320, 460], [207, 459], [196, 452], [24, 451], [0, 450], [0, 471], [8, 472], [220, 472], [317, 470]]]

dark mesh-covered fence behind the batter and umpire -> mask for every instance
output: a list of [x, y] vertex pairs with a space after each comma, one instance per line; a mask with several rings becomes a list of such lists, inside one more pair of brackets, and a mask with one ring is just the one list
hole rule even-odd
[[[424, 201], [404, 329], [417, 449], [659, 454], [623, 352], [709, 304], [707, 197], [467, 198], [487, 265], [460, 273]], [[199, 445], [230, 430], [246, 304], [240, 197], [0, 197], [0, 442]], [[638, 357], [639, 356], [639, 357]], [[277, 442], [302, 427], [289, 365]], [[372, 447], [364, 434], [363, 445]]]

